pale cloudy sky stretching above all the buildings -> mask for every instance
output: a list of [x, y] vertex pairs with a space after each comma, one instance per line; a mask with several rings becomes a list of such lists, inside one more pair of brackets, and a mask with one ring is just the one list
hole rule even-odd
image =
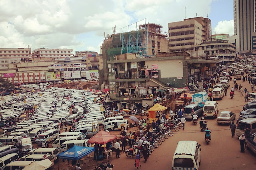
[[163, 26], [197, 16], [233, 35], [233, 0], [0, 0], [0, 48], [100, 51], [103, 33], [147, 18]]

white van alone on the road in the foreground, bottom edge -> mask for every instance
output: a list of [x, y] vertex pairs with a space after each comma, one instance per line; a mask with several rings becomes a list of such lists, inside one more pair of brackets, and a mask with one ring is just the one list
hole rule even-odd
[[179, 141], [172, 158], [172, 170], [199, 169], [201, 145], [196, 141]]

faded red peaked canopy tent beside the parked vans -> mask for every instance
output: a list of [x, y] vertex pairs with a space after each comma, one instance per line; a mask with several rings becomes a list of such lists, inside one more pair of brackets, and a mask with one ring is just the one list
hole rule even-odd
[[94, 135], [91, 139], [88, 140], [88, 143], [97, 143], [97, 144], [106, 144], [114, 139], [116, 139], [116, 135], [112, 135], [105, 131], [99, 131], [96, 135]]

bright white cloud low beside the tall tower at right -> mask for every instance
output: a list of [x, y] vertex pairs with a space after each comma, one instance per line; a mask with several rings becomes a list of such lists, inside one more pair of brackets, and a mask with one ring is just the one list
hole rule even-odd
[[212, 34], [226, 33], [229, 36], [234, 35], [234, 20], [230, 21], [219, 21], [218, 25], [214, 28]]

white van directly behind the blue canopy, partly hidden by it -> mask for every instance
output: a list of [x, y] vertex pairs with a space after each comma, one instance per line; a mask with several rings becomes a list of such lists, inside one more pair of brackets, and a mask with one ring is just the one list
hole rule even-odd
[[79, 147], [91, 147], [91, 144], [88, 143], [88, 139], [85, 140], [74, 140], [74, 141], [66, 141], [60, 145], [59, 150], [60, 152], [66, 151], [74, 145], [79, 146]]

